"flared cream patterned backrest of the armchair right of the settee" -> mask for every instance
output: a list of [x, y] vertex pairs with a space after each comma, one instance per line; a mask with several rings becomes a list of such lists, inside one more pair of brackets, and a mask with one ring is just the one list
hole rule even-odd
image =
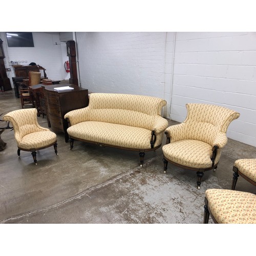
[[239, 113], [218, 105], [187, 103], [186, 108], [187, 117], [184, 123], [189, 124], [188, 138], [209, 144], [212, 144], [217, 133], [226, 133], [230, 122], [240, 116]]

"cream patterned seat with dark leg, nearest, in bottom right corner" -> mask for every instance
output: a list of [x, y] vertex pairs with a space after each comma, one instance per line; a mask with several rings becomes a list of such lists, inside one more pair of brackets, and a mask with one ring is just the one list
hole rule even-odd
[[229, 189], [205, 191], [204, 223], [255, 224], [256, 195]]

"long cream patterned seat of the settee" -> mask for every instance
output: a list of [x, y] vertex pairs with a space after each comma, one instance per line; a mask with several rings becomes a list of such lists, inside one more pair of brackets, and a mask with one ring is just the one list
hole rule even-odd
[[140, 127], [86, 121], [70, 126], [67, 131], [71, 137], [81, 140], [138, 150], [151, 148], [151, 131]]

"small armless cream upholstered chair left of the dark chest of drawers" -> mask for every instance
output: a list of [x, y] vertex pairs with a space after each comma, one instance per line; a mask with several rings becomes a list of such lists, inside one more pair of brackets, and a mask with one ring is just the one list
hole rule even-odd
[[20, 157], [20, 150], [32, 152], [34, 163], [37, 165], [36, 151], [52, 145], [55, 154], [58, 155], [57, 136], [38, 124], [36, 109], [15, 110], [6, 114], [3, 119], [10, 121], [13, 125], [18, 157]]

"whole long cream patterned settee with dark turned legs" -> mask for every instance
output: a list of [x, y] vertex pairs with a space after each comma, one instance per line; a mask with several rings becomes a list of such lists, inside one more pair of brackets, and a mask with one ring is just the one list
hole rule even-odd
[[161, 116], [165, 105], [165, 100], [151, 96], [91, 93], [86, 108], [65, 115], [70, 149], [80, 140], [138, 151], [142, 166], [145, 152], [161, 146], [168, 126]]

